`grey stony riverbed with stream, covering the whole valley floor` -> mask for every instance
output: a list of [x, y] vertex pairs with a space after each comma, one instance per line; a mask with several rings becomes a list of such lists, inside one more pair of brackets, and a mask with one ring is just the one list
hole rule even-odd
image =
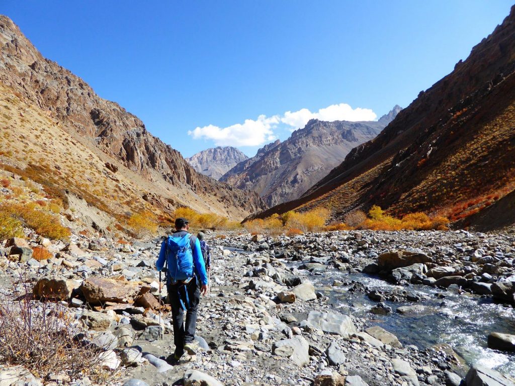
[[[166, 307], [159, 320], [160, 239], [7, 240], [3, 292], [23, 271], [37, 296], [57, 298], [104, 350], [111, 384], [515, 382], [513, 234], [213, 232], [208, 241], [200, 348], [175, 366], [163, 361], [174, 345]], [[40, 244], [52, 258], [32, 258]], [[33, 384], [89, 384], [65, 375]]]

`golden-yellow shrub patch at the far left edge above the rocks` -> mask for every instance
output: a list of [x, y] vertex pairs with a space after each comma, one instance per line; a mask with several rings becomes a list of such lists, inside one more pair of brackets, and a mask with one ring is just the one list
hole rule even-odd
[[0, 212], [50, 239], [63, 240], [71, 235], [70, 230], [61, 225], [58, 217], [36, 207], [36, 203], [3, 203], [0, 205]]

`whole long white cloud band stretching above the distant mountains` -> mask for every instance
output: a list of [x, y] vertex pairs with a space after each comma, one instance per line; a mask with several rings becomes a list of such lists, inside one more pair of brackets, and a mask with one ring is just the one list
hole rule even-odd
[[290, 131], [303, 128], [310, 119], [320, 120], [374, 120], [377, 116], [370, 109], [353, 109], [347, 103], [332, 104], [329, 107], [312, 113], [308, 109], [287, 111], [282, 116], [266, 117], [260, 115], [258, 119], [246, 119], [243, 124], [235, 124], [225, 128], [209, 125], [197, 127], [188, 131], [194, 139], [205, 138], [214, 141], [216, 146], [260, 146], [276, 139], [273, 130], [279, 124], [291, 127]]

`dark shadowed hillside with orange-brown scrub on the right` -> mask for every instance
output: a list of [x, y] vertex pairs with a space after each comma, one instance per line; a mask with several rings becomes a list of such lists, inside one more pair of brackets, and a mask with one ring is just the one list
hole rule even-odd
[[[467, 219], [515, 188], [515, 6], [465, 61], [301, 198], [260, 216], [372, 204]], [[515, 222], [515, 215], [511, 215]], [[467, 225], [467, 221], [464, 221]]]

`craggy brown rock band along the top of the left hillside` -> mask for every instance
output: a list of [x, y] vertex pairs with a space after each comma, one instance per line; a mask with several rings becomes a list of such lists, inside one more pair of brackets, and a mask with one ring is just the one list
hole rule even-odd
[[[0, 81], [101, 150], [151, 182], [154, 202], [173, 200], [198, 210], [239, 217], [263, 208], [262, 200], [197, 173], [170, 145], [117, 103], [100, 98], [82, 79], [43, 58], [8, 17], [0, 16]], [[152, 186], [155, 186], [153, 189]], [[164, 195], [164, 196], [163, 196]]]

